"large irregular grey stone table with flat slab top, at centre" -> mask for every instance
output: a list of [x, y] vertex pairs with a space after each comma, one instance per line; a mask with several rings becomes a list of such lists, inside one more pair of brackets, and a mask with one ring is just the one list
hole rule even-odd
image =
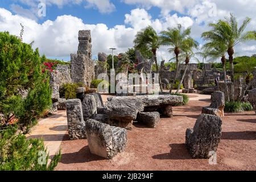
[[182, 101], [183, 97], [172, 95], [109, 97], [104, 114], [115, 126], [131, 129], [139, 112], [158, 111], [163, 117], [172, 117], [172, 105]]

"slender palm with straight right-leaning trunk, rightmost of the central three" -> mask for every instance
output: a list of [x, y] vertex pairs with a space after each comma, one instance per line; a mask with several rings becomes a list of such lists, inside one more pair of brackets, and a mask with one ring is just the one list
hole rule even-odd
[[184, 80], [185, 74], [186, 74], [187, 69], [188, 69], [189, 61], [190, 61], [191, 57], [195, 56], [195, 53], [193, 53], [192, 49], [193, 48], [197, 48], [198, 45], [199, 45], [199, 43], [197, 43], [194, 39], [192, 39], [190, 37], [185, 39], [185, 40], [183, 40], [183, 43], [181, 44], [181, 50], [183, 52], [181, 57], [185, 58], [185, 65], [186, 65], [186, 67], [185, 67], [185, 71], [184, 71], [184, 73], [183, 73], [183, 75], [181, 77], [181, 80], [180, 80], [179, 86], [177, 88], [176, 94], [179, 93], [181, 84], [182, 84], [182, 82]]

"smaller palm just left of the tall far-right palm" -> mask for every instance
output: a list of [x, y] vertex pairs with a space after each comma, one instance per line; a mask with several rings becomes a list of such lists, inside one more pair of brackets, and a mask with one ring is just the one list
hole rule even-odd
[[225, 81], [225, 92], [228, 98], [228, 102], [230, 101], [229, 98], [229, 90], [228, 84], [226, 83], [226, 49], [227, 46], [222, 42], [209, 42], [206, 43], [203, 47], [205, 50], [209, 52], [209, 56], [212, 59], [217, 60], [221, 57], [221, 63], [224, 71], [224, 81]]

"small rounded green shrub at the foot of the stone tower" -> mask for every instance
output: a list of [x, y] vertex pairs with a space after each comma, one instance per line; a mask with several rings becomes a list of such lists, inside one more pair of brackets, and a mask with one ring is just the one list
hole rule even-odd
[[89, 90], [89, 88], [82, 83], [64, 84], [60, 86], [60, 97], [65, 97], [65, 99], [76, 98], [76, 90], [79, 87], [85, 87], [87, 91]]

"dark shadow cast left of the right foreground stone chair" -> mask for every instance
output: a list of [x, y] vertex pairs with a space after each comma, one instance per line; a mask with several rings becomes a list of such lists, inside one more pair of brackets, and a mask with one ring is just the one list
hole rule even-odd
[[189, 155], [185, 143], [170, 144], [171, 151], [166, 154], [158, 154], [152, 156], [153, 159], [172, 159], [172, 160], [187, 160], [192, 159]]

